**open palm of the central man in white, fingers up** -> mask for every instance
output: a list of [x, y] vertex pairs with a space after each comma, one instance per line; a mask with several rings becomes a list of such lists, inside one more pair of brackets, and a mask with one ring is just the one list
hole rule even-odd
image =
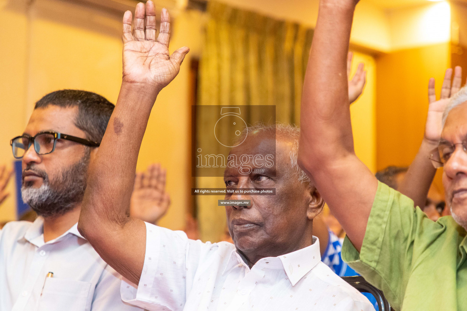
[[151, 0], [138, 3], [132, 14], [123, 16], [123, 82], [148, 85], [157, 92], [169, 84], [180, 70], [180, 64], [190, 50], [179, 48], [169, 54], [170, 16], [161, 11], [161, 26], [156, 40], [156, 13]]

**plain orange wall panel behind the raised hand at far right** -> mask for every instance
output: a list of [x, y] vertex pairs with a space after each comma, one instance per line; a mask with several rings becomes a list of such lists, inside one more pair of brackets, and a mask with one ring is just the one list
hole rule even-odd
[[402, 50], [376, 60], [377, 169], [408, 166], [423, 139], [428, 111], [428, 80], [439, 96], [450, 43]]

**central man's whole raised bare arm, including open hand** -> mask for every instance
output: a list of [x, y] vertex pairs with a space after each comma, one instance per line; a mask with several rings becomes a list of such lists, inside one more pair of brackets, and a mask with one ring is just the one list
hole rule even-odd
[[[115, 110], [92, 162], [79, 232], [122, 276], [138, 284], [146, 249], [143, 221], [130, 217], [136, 161], [160, 90], [177, 76], [188, 48], [169, 54], [170, 17], [161, 13], [156, 37], [152, 1], [123, 17], [123, 80]], [[156, 108], [157, 109], [157, 108]]]

